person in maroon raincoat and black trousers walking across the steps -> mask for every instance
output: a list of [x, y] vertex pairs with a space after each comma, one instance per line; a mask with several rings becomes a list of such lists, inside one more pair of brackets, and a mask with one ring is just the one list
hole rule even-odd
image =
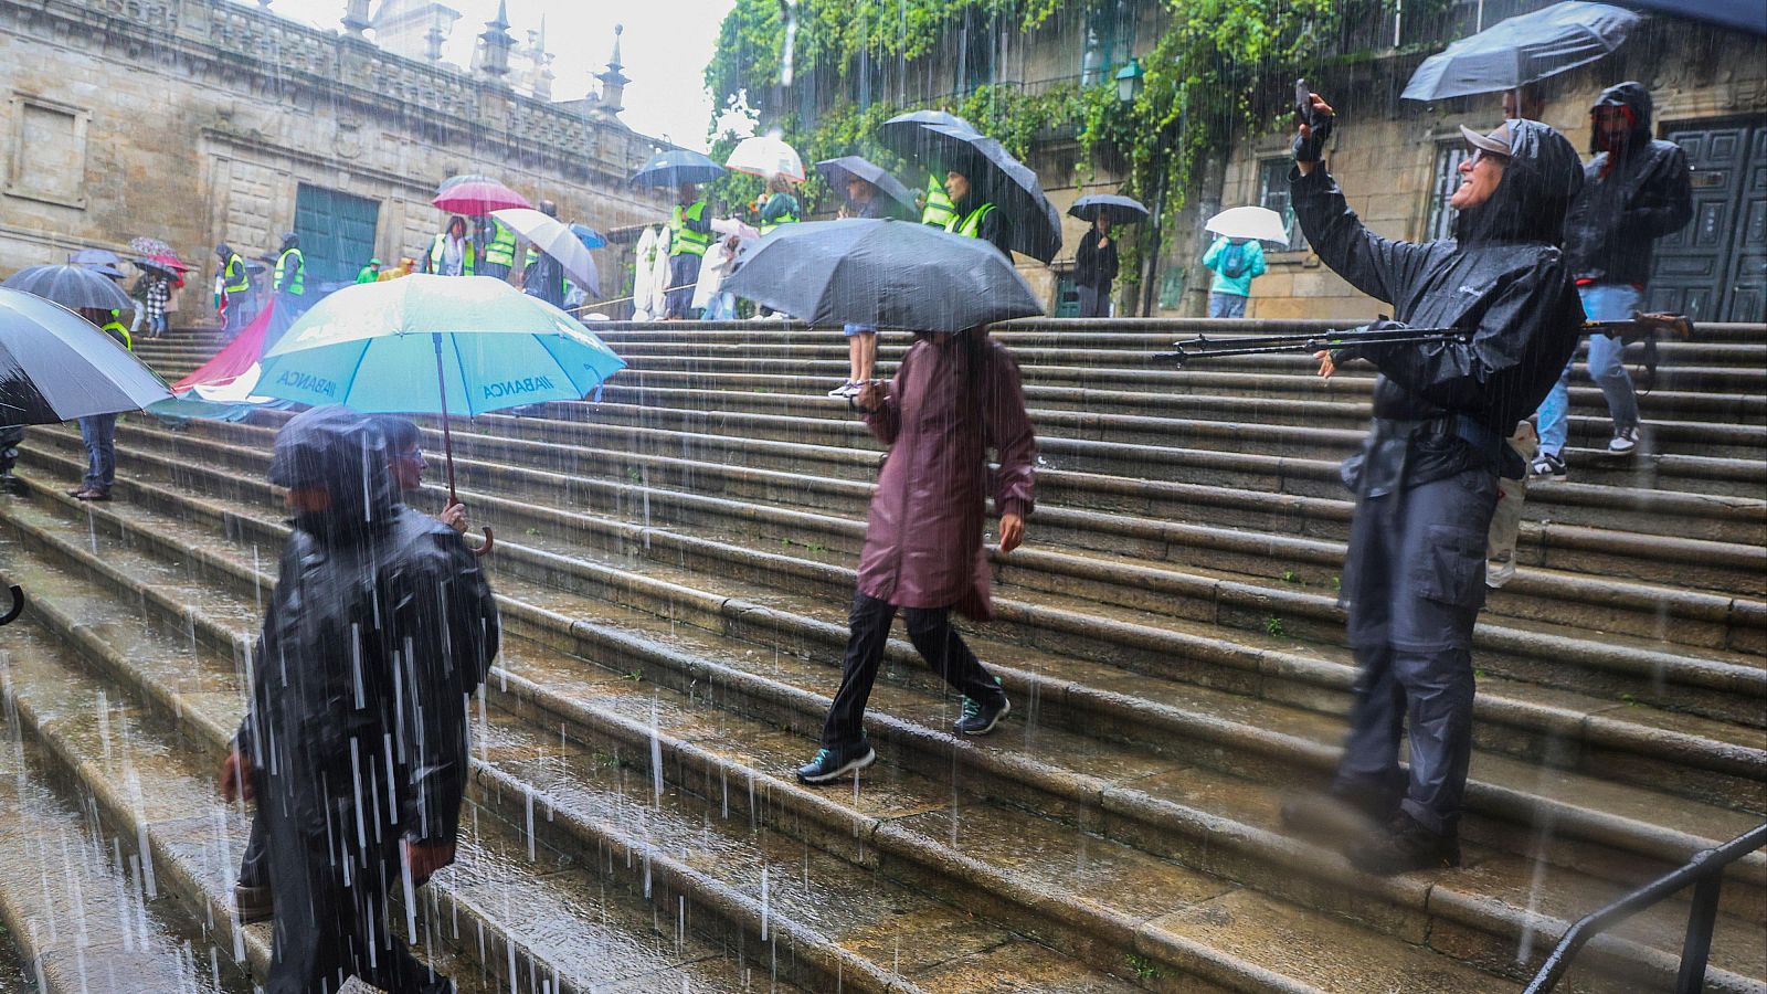
[[[951, 612], [993, 617], [982, 547], [990, 490], [1000, 513], [1000, 552], [1025, 539], [1037, 439], [1018, 363], [986, 329], [922, 333], [896, 380], [887, 389], [866, 384], [859, 401], [871, 433], [891, 449], [871, 497], [841, 690], [822, 750], [797, 771], [806, 784], [827, 784], [876, 759], [864, 736], [866, 700], [898, 608], [914, 647], [963, 693], [958, 732], [984, 736], [1009, 709], [1000, 681], [951, 626]], [[998, 453], [998, 472], [988, 469], [990, 447]]]

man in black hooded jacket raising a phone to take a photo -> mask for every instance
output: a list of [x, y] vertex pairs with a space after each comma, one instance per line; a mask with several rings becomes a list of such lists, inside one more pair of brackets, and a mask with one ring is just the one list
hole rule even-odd
[[[1456, 327], [1470, 341], [1361, 345], [1320, 352], [1320, 375], [1366, 359], [1375, 419], [1345, 462], [1357, 495], [1343, 571], [1359, 663], [1334, 805], [1380, 828], [1348, 849], [1362, 870], [1396, 874], [1460, 863], [1458, 822], [1472, 752], [1472, 628], [1484, 605], [1484, 548], [1497, 478], [1520, 478], [1505, 444], [1539, 403], [1583, 322], [1558, 244], [1581, 184], [1576, 149], [1544, 124], [1509, 120], [1491, 134], [1461, 127], [1454, 239], [1387, 241], [1345, 203], [1320, 163], [1331, 108], [1295, 140], [1295, 216], [1325, 265], [1389, 301], [1410, 327]], [[1389, 322], [1387, 327], [1398, 327]], [[1399, 730], [1410, 727], [1410, 773]], [[1327, 805], [1290, 803], [1285, 821], [1322, 830]]]

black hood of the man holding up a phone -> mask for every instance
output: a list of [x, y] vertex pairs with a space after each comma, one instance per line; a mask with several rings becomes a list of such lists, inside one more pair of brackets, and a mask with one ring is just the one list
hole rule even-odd
[[1537, 120], [1509, 120], [1509, 163], [1491, 198], [1454, 218], [1454, 241], [1564, 242], [1564, 216], [1583, 187], [1576, 149]]

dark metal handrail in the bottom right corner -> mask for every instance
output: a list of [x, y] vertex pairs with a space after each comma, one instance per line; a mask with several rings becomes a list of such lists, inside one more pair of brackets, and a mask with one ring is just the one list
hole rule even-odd
[[1686, 867], [1670, 870], [1654, 883], [1634, 890], [1613, 904], [1578, 918], [1566, 929], [1551, 955], [1541, 964], [1534, 982], [1523, 994], [1546, 994], [1564, 980], [1571, 969], [1571, 960], [1585, 943], [1608, 930], [1652, 904], [1693, 884], [1693, 909], [1687, 913], [1687, 934], [1680, 944], [1680, 975], [1675, 978], [1675, 994], [1698, 994], [1705, 985], [1705, 960], [1712, 952], [1712, 925], [1718, 920], [1718, 888], [1723, 883], [1725, 868], [1749, 853], [1767, 845], [1767, 822], [1732, 838], [1718, 849], [1705, 849], [1695, 854]]

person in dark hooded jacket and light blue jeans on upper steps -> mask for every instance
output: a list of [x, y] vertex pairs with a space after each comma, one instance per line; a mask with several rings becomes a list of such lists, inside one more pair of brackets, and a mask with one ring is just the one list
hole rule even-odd
[[[1564, 223], [1564, 253], [1590, 320], [1626, 320], [1645, 304], [1652, 244], [1693, 219], [1693, 173], [1687, 154], [1673, 141], [1650, 138], [1650, 92], [1620, 83], [1601, 92], [1589, 108], [1590, 150], [1583, 191]], [[1613, 419], [1608, 453], [1624, 456], [1638, 447], [1638, 396], [1620, 361], [1624, 341], [1590, 333], [1589, 377], [1601, 387]], [[1534, 472], [1566, 479], [1564, 446], [1569, 437], [1571, 364], [1541, 403], [1541, 455]]]

